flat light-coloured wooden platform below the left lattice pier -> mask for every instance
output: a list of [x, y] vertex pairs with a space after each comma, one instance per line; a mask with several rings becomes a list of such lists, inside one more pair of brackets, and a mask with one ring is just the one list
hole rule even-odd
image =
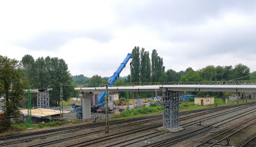
[[[24, 116], [28, 115], [28, 109], [20, 110]], [[63, 113], [69, 113], [70, 111], [63, 111]], [[52, 110], [52, 109], [31, 109], [31, 116], [35, 116], [38, 118], [42, 118], [45, 116], [53, 116], [60, 114], [59, 110]]]

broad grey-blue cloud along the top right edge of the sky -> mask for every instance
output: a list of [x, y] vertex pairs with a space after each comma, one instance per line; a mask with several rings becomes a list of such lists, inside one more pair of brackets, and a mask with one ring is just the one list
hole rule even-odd
[[[126, 1], [125, 1], [126, 2]], [[129, 1], [131, 2], [131, 1]], [[226, 10], [252, 12], [255, 1], [144, 1], [143, 4], [132, 5], [117, 3], [116, 13], [121, 24], [159, 27], [162, 25], [200, 24], [209, 18], [219, 17]]]

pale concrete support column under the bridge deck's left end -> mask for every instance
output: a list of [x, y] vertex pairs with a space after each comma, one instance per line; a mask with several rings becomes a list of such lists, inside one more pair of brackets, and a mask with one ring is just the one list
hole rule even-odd
[[81, 93], [81, 105], [83, 107], [83, 120], [91, 118], [91, 98], [93, 93]]

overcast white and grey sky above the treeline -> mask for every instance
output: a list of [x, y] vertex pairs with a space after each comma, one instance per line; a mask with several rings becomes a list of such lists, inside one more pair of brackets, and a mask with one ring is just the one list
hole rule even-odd
[[[256, 1], [0, 1], [0, 55], [63, 58], [72, 75], [111, 76], [134, 46], [166, 70], [256, 70]], [[120, 76], [129, 74], [129, 64]]]

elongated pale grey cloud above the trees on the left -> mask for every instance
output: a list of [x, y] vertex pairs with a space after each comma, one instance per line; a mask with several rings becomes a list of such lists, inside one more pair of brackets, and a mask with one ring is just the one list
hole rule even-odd
[[26, 40], [16, 42], [17, 45], [25, 47], [29, 50], [56, 50], [61, 45], [74, 38], [90, 38], [96, 42], [109, 42], [113, 38], [109, 30], [94, 29], [88, 31], [45, 31], [38, 33], [36, 36], [31, 36]]

